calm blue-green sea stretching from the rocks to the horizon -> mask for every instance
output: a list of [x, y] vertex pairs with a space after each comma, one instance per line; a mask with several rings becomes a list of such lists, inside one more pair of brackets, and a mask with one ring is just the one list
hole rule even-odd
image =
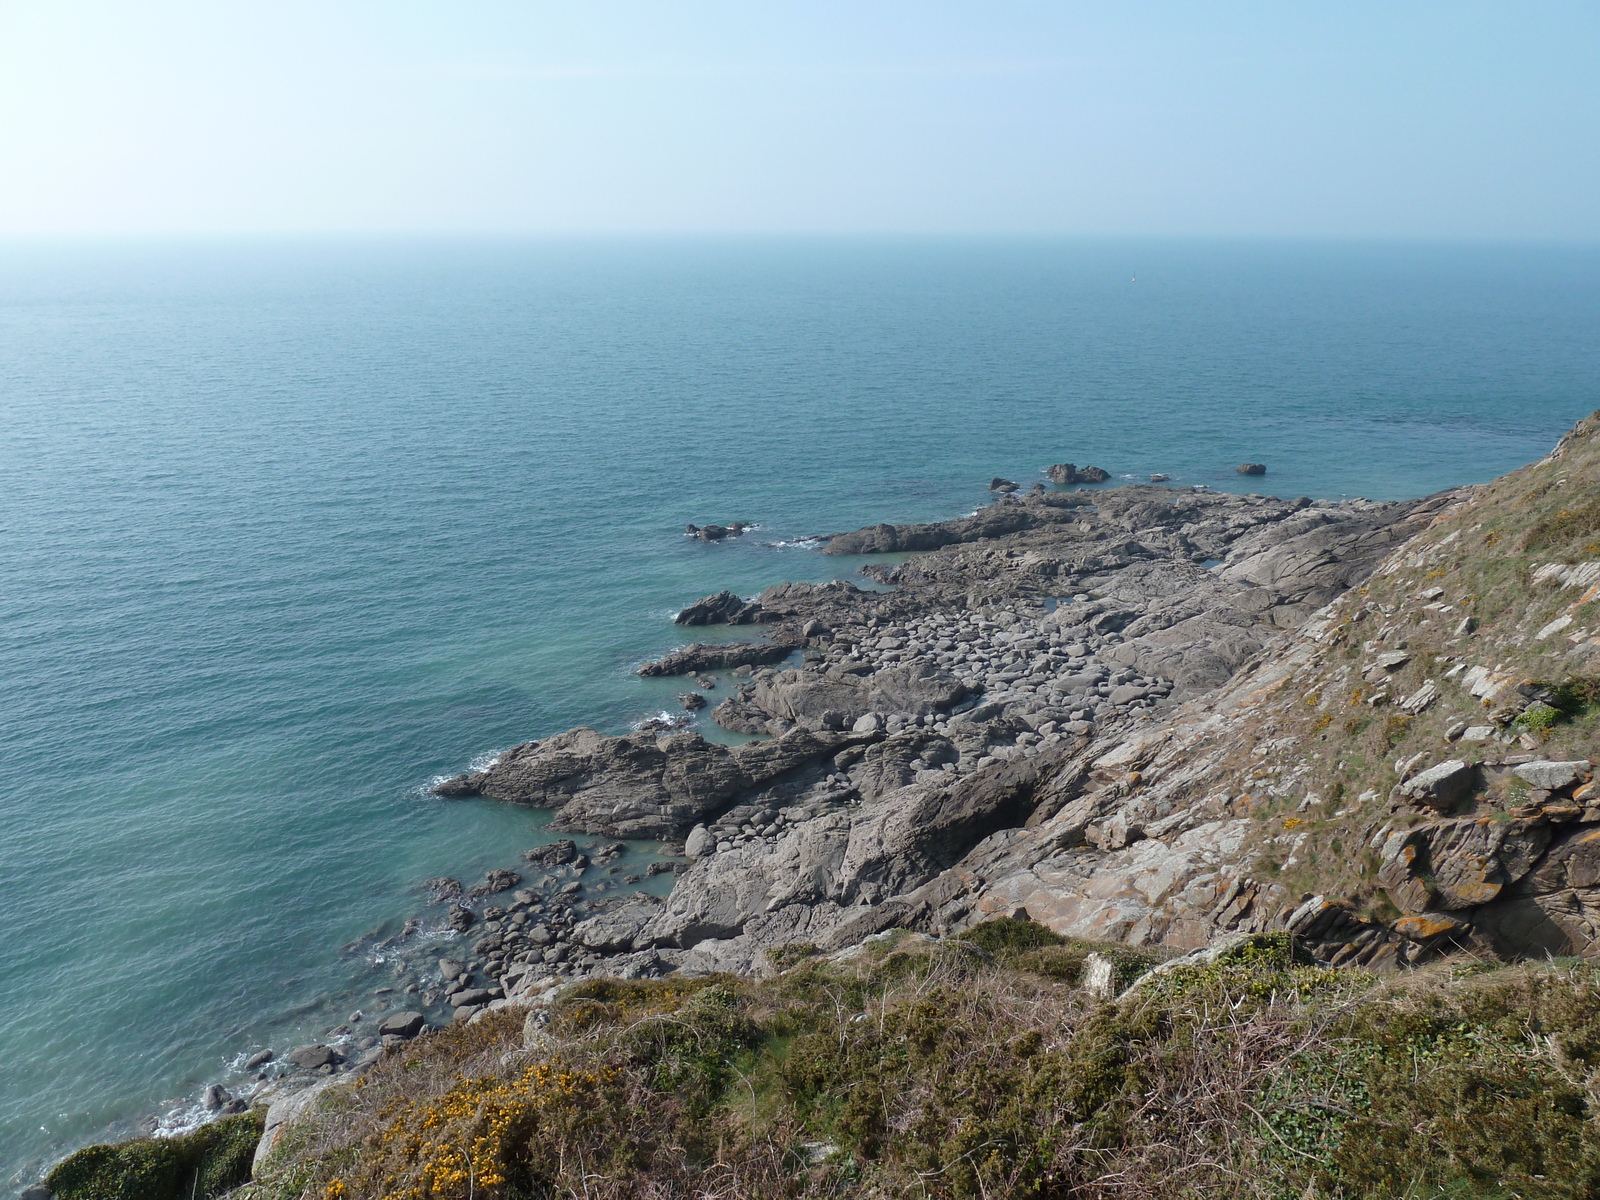
[[550, 837], [426, 784], [666, 707], [678, 606], [859, 566], [808, 534], [1056, 461], [1416, 496], [1597, 406], [1592, 246], [0, 246], [0, 1179], [326, 1027]]

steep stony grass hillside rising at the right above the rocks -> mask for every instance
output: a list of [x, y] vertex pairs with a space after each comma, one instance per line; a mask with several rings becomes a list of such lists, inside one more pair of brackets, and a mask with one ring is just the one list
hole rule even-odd
[[[1397, 763], [1600, 760], [1600, 587], [1534, 581], [1541, 566], [1584, 562], [1600, 563], [1600, 414], [1550, 458], [1475, 488], [1336, 602], [1331, 630], [1277, 693], [1270, 717], [1229, 734], [1221, 774], [1242, 797], [1235, 811], [1262, 818], [1261, 874], [1294, 894], [1326, 893], [1394, 917], [1376, 885], [1371, 838], [1424, 819], [1390, 811]], [[1571, 624], [1538, 637], [1562, 616]], [[1411, 656], [1405, 666], [1384, 682], [1366, 677], [1379, 654], [1400, 650]], [[1469, 694], [1459, 680], [1470, 667], [1488, 667], [1499, 694], [1486, 702]], [[1440, 698], [1421, 714], [1403, 712], [1400, 701], [1427, 682]], [[1558, 712], [1522, 715], [1528, 699], [1515, 685], [1523, 682]], [[1493, 725], [1509, 744], [1448, 741], [1462, 723]], [[1502, 814], [1526, 798], [1520, 781], [1502, 774], [1462, 811]]]

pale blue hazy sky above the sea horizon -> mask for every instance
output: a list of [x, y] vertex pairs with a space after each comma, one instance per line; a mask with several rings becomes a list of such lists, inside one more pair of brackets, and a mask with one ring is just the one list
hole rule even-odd
[[1600, 3], [0, 0], [0, 234], [1600, 237]]

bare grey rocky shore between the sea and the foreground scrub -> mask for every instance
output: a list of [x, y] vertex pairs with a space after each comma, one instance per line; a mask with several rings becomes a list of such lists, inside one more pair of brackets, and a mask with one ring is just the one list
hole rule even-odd
[[[1563, 446], [1594, 453], [1592, 437], [1581, 424]], [[1059, 467], [1062, 485], [1093, 478]], [[1600, 822], [1592, 765], [1530, 754], [1538, 742], [1514, 726], [1555, 698], [1515, 691], [1514, 672], [1466, 653], [1475, 621], [1445, 587], [1370, 598], [1368, 584], [1443, 562], [1427, 547], [1482, 488], [1398, 502], [1166, 485], [995, 491], [968, 517], [822, 539], [824, 554], [910, 552], [862, 568], [885, 590], [784, 582], [686, 603], [678, 626], [760, 637], [693, 643], [638, 674], [715, 688], [715, 707], [683, 720], [749, 741], [576, 728], [438, 782], [445, 798], [550, 810], [552, 829], [573, 837], [472, 886], [430, 880], [432, 902], [363, 947], [394, 973], [368, 1011], [322, 1043], [256, 1054], [248, 1086], [214, 1086], [205, 1107], [270, 1104], [269, 1154], [317, 1091], [427, 1029], [538, 1010], [587, 978], [760, 974], [784, 947], [840, 952], [886, 930], [952, 936], [1016, 915], [1168, 954], [1285, 930], [1325, 962], [1395, 968], [1469, 944], [1515, 955], [1538, 941], [1517, 925], [1538, 901], [1523, 888], [1501, 912], [1501, 891], [1539, 870], [1587, 886], [1566, 878], [1587, 867], [1550, 864], [1576, 864], [1573, 834]], [[1365, 640], [1350, 632], [1363, 619]], [[1416, 666], [1406, 619], [1453, 627], [1462, 653], [1446, 670], [1451, 654], [1429, 650], [1427, 678], [1402, 690]], [[1442, 726], [1440, 750], [1395, 763], [1392, 790], [1331, 813], [1338, 795], [1309, 790], [1310, 766], [1294, 762], [1328, 722], [1290, 736], [1278, 714], [1301, 693], [1312, 715], [1326, 709], [1334, 683], [1304, 691], [1312, 677], [1342, 682], [1350, 706], [1403, 717], [1402, 736], [1450, 707], [1451, 682], [1499, 709], [1488, 725]], [[1480, 750], [1446, 760], [1451, 744]], [[1472, 797], [1496, 787], [1523, 808], [1478, 845]], [[1310, 850], [1309, 834], [1290, 834], [1325, 803], [1371, 845], [1371, 882], [1402, 898], [1400, 912], [1294, 886]], [[645, 861], [627, 840], [656, 853]]]

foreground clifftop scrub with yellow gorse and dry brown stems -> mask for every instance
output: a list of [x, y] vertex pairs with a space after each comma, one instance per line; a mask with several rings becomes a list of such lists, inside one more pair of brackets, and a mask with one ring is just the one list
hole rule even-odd
[[1600, 1195], [1592, 966], [1376, 978], [1277, 934], [1106, 1003], [1074, 986], [1086, 949], [995, 922], [768, 979], [582, 984], [528, 1050], [496, 1014], [390, 1056], [248, 1190]]

